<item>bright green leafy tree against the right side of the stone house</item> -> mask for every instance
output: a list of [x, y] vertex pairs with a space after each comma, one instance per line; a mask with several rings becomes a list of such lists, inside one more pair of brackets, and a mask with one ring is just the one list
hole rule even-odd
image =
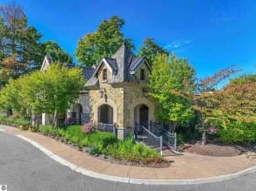
[[169, 131], [174, 132], [178, 122], [186, 124], [194, 116], [190, 109], [190, 92], [194, 83], [195, 70], [184, 58], [175, 54], [157, 54], [152, 66], [150, 96], [159, 100], [160, 121], [169, 124]]

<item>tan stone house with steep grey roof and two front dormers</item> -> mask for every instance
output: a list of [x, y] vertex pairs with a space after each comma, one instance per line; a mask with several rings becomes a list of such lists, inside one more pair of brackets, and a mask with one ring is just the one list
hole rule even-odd
[[[41, 70], [52, 61], [46, 56]], [[152, 68], [145, 56], [137, 58], [123, 42], [111, 58], [102, 57], [93, 68], [82, 68], [89, 91], [80, 92], [66, 117], [75, 114], [81, 122], [116, 124], [119, 139], [133, 133], [135, 122], [148, 128], [149, 121], [155, 120], [157, 101], [148, 96], [147, 86]], [[43, 124], [47, 124], [44, 118]]]

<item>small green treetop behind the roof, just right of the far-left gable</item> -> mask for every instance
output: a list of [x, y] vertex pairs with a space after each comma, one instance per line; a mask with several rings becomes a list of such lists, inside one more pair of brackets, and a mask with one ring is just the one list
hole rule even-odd
[[46, 41], [43, 43], [44, 54], [51, 56], [54, 61], [60, 61], [61, 63], [73, 63], [73, 58], [64, 52], [60, 46], [54, 41]]

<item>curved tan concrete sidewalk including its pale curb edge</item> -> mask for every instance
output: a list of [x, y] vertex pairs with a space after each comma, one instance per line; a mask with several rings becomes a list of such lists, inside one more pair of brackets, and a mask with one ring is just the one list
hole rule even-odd
[[182, 152], [165, 158], [171, 161], [167, 168], [135, 167], [104, 162], [83, 154], [58, 141], [17, 128], [0, 125], [0, 131], [16, 135], [32, 143], [45, 154], [77, 172], [111, 181], [145, 184], [198, 184], [223, 181], [256, 171], [256, 153], [234, 157], [200, 156]]

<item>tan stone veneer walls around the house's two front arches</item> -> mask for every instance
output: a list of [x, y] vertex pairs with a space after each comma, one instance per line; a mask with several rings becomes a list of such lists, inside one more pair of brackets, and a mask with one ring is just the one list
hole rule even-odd
[[[150, 71], [148, 70], [148, 67], [146, 66], [145, 63], [142, 64], [140, 69], [145, 70], [145, 79], [146, 80], [140, 80], [140, 84], [137, 83], [131, 83], [131, 82], [120, 82], [116, 83], [112, 86], [112, 84], [108, 84], [107, 82], [102, 83], [102, 71], [103, 69], [108, 69], [106, 65], [102, 65], [102, 67], [99, 69], [98, 73], [98, 79], [99, 79], [99, 84], [100, 84], [100, 89], [104, 90], [106, 89], [106, 93], [104, 93], [103, 98], [106, 99], [111, 99], [116, 103], [117, 105], [117, 135], [119, 139], [123, 139], [127, 137], [128, 135], [133, 134], [133, 125], [131, 124], [130, 121], [130, 109], [131, 105], [140, 98], [146, 98], [150, 100], [154, 105], [156, 105], [157, 101], [156, 99], [148, 96], [144, 96], [144, 92], [142, 91], [142, 88], [145, 88], [150, 92], [150, 89], [147, 87], [147, 84], [149, 82], [149, 73]], [[140, 69], [135, 73], [138, 79], [140, 79]], [[111, 77], [111, 73], [108, 69], [108, 79]], [[99, 89], [97, 90], [90, 90], [90, 99], [89, 99], [89, 104], [90, 104], [90, 118], [93, 120], [95, 111], [94, 111], [94, 106], [99, 101], [102, 99], [99, 95]], [[140, 103], [143, 104], [143, 103]], [[152, 111], [153, 113], [155, 111]]]

